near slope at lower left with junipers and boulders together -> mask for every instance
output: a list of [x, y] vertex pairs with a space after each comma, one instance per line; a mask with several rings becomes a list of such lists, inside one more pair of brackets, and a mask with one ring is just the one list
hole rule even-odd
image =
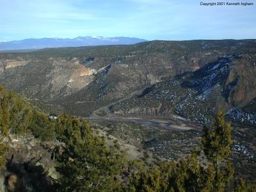
[[[87, 178], [83, 190], [112, 191], [116, 184], [120, 188], [114, 177], [121, 174], [123, 152], [113, 141], [111, 145], [94, 134], [87, 121], [49, 116], [0, 86], [1, 191], [66, 191], [72, 188], [65, 184], [71, 168], [72, 182], [76, 179], [78, 184], [81, 175]], [[79, 165], [80, 173], [74, 171], [76, 163], [84, 166], [83, 170]], [[96, 186], [99, 180], [104, 182]]]

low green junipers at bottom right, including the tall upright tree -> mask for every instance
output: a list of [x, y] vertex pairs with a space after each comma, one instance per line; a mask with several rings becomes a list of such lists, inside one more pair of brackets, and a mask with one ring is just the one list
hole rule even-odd
[[161, 163], [154, 171], [141, 170], [130, 177], [128, 191], [225, 191], [233, 178], [234, 170], [228, 159], [230, 154], [230, 124], [224, 114], [218, 113], [211, 127], [204, 127], [202, 150], [208, 166], [198, 161], [200, 150], [193, 150], [188, 159]]

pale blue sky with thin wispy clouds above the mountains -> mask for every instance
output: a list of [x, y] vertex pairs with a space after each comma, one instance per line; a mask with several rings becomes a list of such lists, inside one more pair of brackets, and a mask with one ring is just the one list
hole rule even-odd
[[253, 1], [253, 6], [205, 7], [194, 0], [0, 0], [0, 41], [94, 35], [256, 38], [256, 3], [248, 0]]

